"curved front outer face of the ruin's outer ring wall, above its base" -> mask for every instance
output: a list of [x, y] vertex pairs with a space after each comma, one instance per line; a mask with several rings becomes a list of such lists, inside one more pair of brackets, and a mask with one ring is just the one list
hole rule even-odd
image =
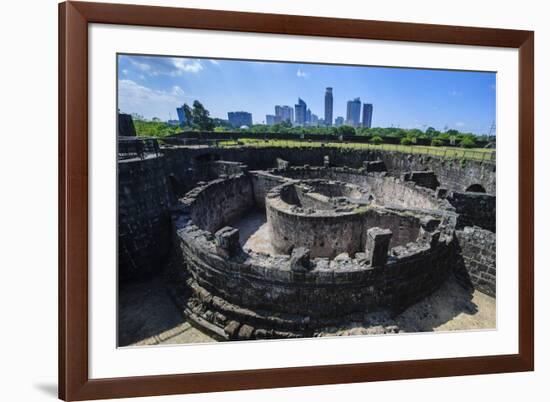
[[199, 287], [195, 291], [204, 289], [211, 295], [204, 299], [206, 306], [227, 321], [302, 334], [326, 324], [325, 319], [342, 319], [354, 312], [400, 311], [437, 289], [451, 267], [452, 247], [438, 241], [394, 249], [379, 267], [361, 259], [314, 259], [309, 271], [295, 272], [289, 256], [222, 257], [209, 233], [189, 226], [185, 217], [176, 228], [187, 267]]

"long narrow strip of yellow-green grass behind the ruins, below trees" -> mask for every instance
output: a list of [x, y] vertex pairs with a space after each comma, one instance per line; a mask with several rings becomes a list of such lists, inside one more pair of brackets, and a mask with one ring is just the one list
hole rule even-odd
[[309, 142], [297, 140], [260, 140], [253, 138], [241, 138], [238, 141], [227, 140], [220, 141], [218, 146], [247, 146], [247, 147], [286, 147], [286, 148], [312, 148], [312, 147], [335, 147], [342, 149], [379, 149], [383, 151], [406, 152], [411, 154], [423, 154], [440, 156], [449, 159], [471, 159], [479, 161], [494, 161], [495, 150], [486, 148], [455, 148], [455, 147], [432, 147], [424, 145], [398, 145], [398, 144], [361, 144], [361, 143], [345, 143], [345, 142]]

